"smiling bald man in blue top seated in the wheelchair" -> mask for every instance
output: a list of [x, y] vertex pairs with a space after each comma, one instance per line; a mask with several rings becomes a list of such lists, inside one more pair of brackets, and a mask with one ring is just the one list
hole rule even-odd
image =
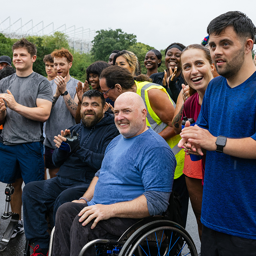
[[172, 150], [146, 126], [147, 110], [135, 92], [117, 98], [114, 114], [121, 134], [84, 196], [59, 207], [53, 255], [78, 255], [89, 241], [118, 238], [138, 219], [167, 210], [176, 167]]

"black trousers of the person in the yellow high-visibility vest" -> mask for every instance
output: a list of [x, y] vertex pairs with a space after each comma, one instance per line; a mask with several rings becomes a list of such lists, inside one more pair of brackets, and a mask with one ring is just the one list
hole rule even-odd
[[172, 190], [178, 193], [181, 203], [181, 214], [183, 218], [183, 227], [186, 228], [187, 216], [188, 216], [188, 189], [186, 185], [185, 174], [182, 174], [177, 179], [173, 180]]

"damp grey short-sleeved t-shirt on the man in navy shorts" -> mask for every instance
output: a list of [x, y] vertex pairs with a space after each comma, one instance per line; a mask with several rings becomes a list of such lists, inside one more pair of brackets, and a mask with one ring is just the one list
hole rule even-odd
[[[52, 89], [49, 81], [36, 72], [26, 77], [16, 73], [0, 81], [0, 93], [13, 94], [17, 103], [26, 107], [37, 107], [36, 99], [45, 99], [52, 102]], [[36, 142], [41, 139], [41, 122], [23, 117], [17, 112], [6, 108], [5, 124], [1, 133], [4, 144], [21, 144]]]

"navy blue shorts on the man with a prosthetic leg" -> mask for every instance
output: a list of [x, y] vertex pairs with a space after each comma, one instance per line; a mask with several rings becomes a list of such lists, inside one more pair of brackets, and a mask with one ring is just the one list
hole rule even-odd
[[25, 184], [44, 180], [43, 145], [40, 142], [5, 145], [0, 143], [0, 181], [13, 183], [23, 178]]

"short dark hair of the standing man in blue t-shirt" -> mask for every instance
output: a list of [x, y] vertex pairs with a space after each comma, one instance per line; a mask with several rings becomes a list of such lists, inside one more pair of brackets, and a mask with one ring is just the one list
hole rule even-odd
[[234, 29], [240, 38], [253, 39], [256, 35], [256, 27], [253, 22], [241, 11], [228, 11], [216, 17], [209, 23], [207, 33], [219, 35], [229, 26]]

